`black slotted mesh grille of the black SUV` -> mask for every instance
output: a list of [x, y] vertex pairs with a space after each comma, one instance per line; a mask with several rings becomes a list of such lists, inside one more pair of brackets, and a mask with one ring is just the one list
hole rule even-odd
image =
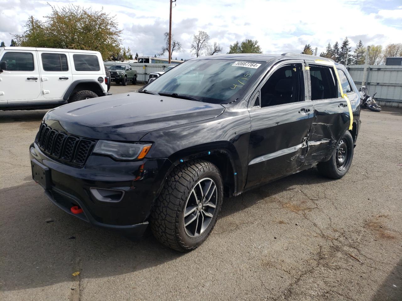
[[71, 165], [83, 166], [95, 141], [68, 135], [41, 124], [37, 144], [46, 155]]

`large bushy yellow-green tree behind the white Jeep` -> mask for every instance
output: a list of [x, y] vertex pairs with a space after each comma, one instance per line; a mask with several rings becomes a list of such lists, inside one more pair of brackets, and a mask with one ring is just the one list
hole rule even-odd
[[18, 45], [99, 51], [108, 59], [120, 51], [121, 30], [115, 16], [92, 8], [51, 6], [51, 14], [41, 22], [31, 17], [22, 35], [14, 35]]

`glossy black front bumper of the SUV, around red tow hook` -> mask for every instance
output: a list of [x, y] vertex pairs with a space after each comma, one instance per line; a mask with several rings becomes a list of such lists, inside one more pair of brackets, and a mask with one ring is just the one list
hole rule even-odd
[[[50, 184], [45, 195], [65, 212], [95, 226], [141, 236], [148, 226], [154, 200], [164, 183], [171, 163], [168, 159], [117, 162], [109, 157], [90, 155], [84, 167], [74, 167], [45, 155], [31, 144], [33, 162], [50, 170]], [[33, 154], [35, 153], [35, 154]], [[91, 188], [123, 191], [119, 201], [100, 201]], [[73, 214], [79, 206], [83, 212]]]

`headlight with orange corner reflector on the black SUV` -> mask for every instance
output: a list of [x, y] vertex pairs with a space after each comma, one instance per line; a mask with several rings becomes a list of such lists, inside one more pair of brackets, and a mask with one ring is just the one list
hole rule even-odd
[[99, 140], [94, 153], [108, 155], [117, 160], [142, 159], [150, 151], [152, 144], [123, 143]]

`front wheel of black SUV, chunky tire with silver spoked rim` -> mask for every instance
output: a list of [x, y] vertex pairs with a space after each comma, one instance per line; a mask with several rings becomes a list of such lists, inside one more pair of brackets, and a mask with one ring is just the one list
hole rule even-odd
[[151, 213], [154, 236], [174, 250], [201, 245], [216, 224], [223, 200], [219, 169], [207, 161], [189, 161], [168, 175]]

